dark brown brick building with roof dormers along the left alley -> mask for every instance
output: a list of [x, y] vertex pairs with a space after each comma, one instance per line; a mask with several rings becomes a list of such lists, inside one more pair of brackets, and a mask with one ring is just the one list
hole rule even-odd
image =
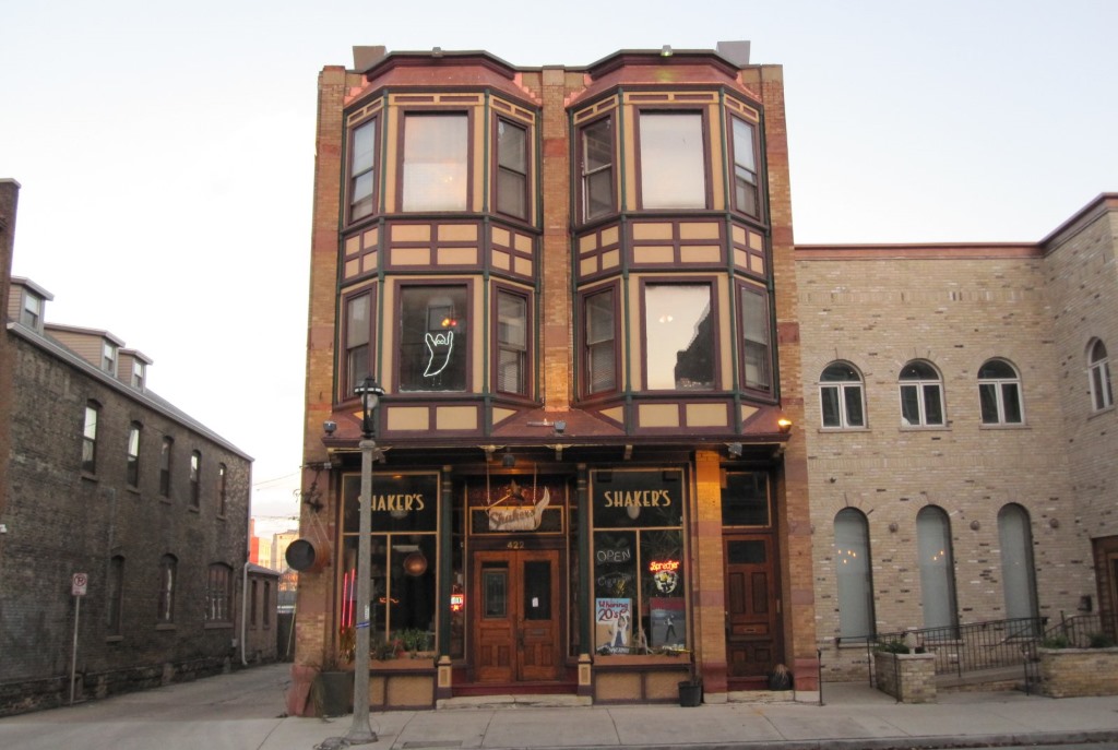
[[0, 713], [69, 700], [75, 619], [76, 699], [228, 668], [240, 655], [252, 471], [146, 387], [149, 358], [108, 332], [46, 321], [50, 294], [10, 277], [17, 190], [0, 183], [12, 209], [0, 211]]

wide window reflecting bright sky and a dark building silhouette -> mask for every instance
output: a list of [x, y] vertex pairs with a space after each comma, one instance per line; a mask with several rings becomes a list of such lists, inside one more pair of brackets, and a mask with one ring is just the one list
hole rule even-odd
[[650, 390], [714, 387], [709, 284], [644, 287], [645, 378]]

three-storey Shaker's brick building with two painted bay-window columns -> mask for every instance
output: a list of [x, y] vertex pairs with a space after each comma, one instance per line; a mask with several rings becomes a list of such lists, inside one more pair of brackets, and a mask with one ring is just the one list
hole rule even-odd
[[369, 373], [373, 637], [435, 649], [398, 683], [379, 665], [375, 704], [675, 701], [691, 659], [708, 700], [781, 663], [809, 695], [780, 68], [748, 42], [354, 54], [319, 84], [290, 709], [359, 619]]

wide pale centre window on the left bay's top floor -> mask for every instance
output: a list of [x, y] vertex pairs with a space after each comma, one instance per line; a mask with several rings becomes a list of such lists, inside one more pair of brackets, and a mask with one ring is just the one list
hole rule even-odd
[[402, 210], [466, 210], [467, 133], [465, 114], [404, 116]]

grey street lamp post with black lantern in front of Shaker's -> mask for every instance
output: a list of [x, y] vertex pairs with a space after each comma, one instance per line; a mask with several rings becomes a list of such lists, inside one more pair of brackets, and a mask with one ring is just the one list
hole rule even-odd
[[370, 617], [370, 577], [372, 575], [372, 458], [377, 450], [375, 414], [385, 389], [372, 376], [353, 389], [361, 397], [361, 535], [357, 548], [357, 613], [356, 646], [353, 655], [353, 723], [345, 735], [348, 744], [367, 744], [377, 741], [377, 733], [369, 725], [369, 639], [372, 633]]

